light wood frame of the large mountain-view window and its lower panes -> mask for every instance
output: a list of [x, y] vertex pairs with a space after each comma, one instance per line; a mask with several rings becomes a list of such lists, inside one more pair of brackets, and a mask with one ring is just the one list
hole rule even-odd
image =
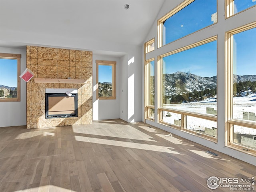
[[[206, 44], [206, 43], [209, 43], [209, 42], [213, 42], [213, 41], [217, 41], [217, 35], [158, 56], [158, 106], [159, 106], [158, 107], [158, 123], [163, 124], [165, 126], [170, 126], [172, 128], [176, 128], [178, 130], [182, 130], [182, 131], [185, 131], [185, 132], [195, 134], [195, 135], [197, 135], [201, 138], [204, 138], [204, 139], [210, 140], [214, 143], [217, 143], [218, 128], [217, 128], [217, 137], [212, 137], [212, 136], [209, 136], [207, 134], [198, 134], [198, 132], [193, 131], [193, 130], [189, 130], [189, 129], [186, 128], [186, 117], [187, 116], [202, 118], [202, 119], [205, 119], [205, 120], [214, 121], [216, 123], [217, 123], [217, 116], [212, 116], [212, 115], [208, 115], [208, 114], [199, 114], [199, 113], [195, 113], [195, 112], [176, 110], [176, 109], [170, 109], [170, 108], [164, 108], [162, 106], [162, 97], [163, 97], [162, 96], [162, 65], [163, 65], [162, 64], [162, 58], [166, 57], [166, 56], [169, 56], [169, 55], [172, 55], [172, 54], [176, 54], [176, 53], [188, 50], [188, 49], [191, 49], [191, 48], [194, 48], [194, 47], [197, 47], [197, 46], [200, 46], [200, 45], [203, 45], [203, 44]], [[163, 111], [172, 112], [172, 113], [176, 113], [176, 114], [181, 114], [181, 126], [177, 126], [177, 125], [174, 125], [174, 124], [169, 124], [167, 122], [164, 122], [163, 118], [162, 118]]]

